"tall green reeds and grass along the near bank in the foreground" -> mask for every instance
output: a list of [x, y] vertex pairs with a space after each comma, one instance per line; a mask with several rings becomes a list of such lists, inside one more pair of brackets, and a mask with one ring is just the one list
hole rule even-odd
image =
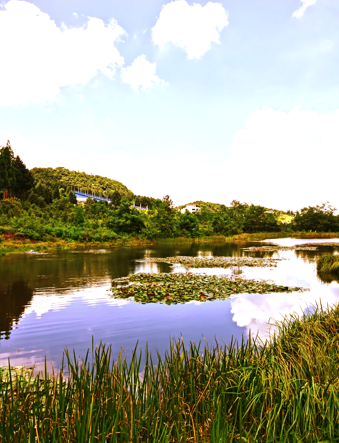
[[136, 349], [114, 362], [100, 345], [79, 365], [66, 352], [67, 378], [4, 375], [1, 441], [335, 441], [339, 308], [277, 327], [264, 346], [179, 341], [153, 359], [146, 349], [145, 368]]

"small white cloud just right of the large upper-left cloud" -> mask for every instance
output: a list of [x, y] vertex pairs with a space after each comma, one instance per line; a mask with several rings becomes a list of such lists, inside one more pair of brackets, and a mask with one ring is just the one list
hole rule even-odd
[[121, 68], [121, 78], [136, 91], [140, 86], [142, 89], [151, 88], [154, 85], [164, 86], [165, 81], [155, 74], [156, 67], [156, 63], [150, 63], [146, 55], [142, 54], [135, 58], [131, 66]]

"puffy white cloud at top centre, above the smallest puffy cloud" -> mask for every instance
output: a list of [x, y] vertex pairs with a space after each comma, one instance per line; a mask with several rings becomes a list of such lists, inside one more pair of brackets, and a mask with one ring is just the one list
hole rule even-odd
[[227, 25], [228, 13], [219, 3], [190, 6], [185, 0], [176, 0], [162, 7], [152, 38], [161, 50], [172, 42], [184, 49], [188, 58], [200, 58], [212, 42], [220, 43], [220, 31]]

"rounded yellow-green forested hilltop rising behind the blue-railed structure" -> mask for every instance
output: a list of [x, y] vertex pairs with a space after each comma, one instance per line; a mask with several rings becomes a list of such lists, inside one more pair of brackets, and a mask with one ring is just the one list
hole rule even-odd
[[101, 175], [89, 175], [85, 172], [69, 171], [65, 167], [34, 167], [31, 169], [35, 184], [56, 184], [60, 187], [79, 187], [83, 191], [95, 192], [96, 194], [111, 195], [114, 191], [119, 191], [121, 195], [132, 194], [123, 183], [116, 180], [102, 177]]

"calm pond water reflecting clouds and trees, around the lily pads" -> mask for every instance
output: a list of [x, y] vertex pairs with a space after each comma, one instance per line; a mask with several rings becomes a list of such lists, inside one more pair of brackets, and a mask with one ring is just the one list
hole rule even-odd
[[[46, 254], [7, 254], [0, 257], [0, 365], [60, 367], [67, 346], [77, 356], [100, 341], [131, 355], [137, 342], [144, 349], [164, 354], [170, 340], [186, 343], [215, 340], [228, 344], [231, 337], [266, 337], [272, 319], [308, 307], [339, 301], [339, 284], [323, 284], [316, 276], [316, 257], [338, 253], [328, 243], [338, 239], [274, 239], [263, 242], [150, 245], [135, 248], [56, 250]], [[253, 246], [293, 246], [326, 242], [316, 250], [246, 250]], [[272, 248], [274, 249], [274, 248]], [[152, 257], [227, 256], [277, 260], [275, 266], [186, 268]], [[137, 261], [146, 260], [146, 261]], [[270, 261], [270, 260], [269, 260]], [[301, 287], [305, 292], [243, 293], [209, 303], [136, 303], [116, 299], [108, 291], [112, 281], [139, 272], [198, 272], [235, 274], [248, 279], [273, 280], [278, 285]]]

